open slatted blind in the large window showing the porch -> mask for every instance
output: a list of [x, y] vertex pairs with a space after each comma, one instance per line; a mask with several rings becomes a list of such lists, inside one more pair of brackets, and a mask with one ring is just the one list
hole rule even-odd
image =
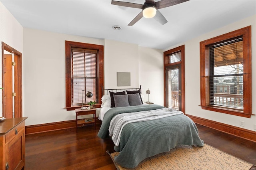
[[210, 105], [243, 109], [243, 39], [211, 45]]

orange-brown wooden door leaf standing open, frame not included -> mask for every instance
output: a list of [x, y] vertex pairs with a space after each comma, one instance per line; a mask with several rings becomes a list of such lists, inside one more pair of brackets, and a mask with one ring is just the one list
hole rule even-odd
[[3, 58], [3, 113], [6, 118], [13, 118], [12, 102], [12, 54], [4, 54]]

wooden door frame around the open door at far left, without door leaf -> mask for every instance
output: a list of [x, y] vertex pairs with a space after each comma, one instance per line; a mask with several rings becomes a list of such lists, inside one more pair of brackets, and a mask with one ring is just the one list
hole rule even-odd
[[[16, 92], [16, 97], [14, 97], [14, 117], [22, 117], [22, 53], [16, 49], [10, 47], [6, 43], [2, 42], [2, 85], [4, 84], [4, 70], [3, 70], [3, 59], [4, 50], [9, 53], [14, 54], [14, 61], [16, 62], [16, 67], [14, 67], [14, 91]], [[4, 89], [2, 89], [2, 111], [3, 117], [4, 113]]]

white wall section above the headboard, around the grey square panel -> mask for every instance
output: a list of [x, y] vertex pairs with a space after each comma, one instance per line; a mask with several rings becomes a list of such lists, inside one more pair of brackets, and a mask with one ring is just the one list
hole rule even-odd
[[105, 89], [122, 89], [117, 86], [117, 72], [130, 72], [131, 86], [139, 87], [137, 44], [105, 40], [104, 45], [104, 86]]

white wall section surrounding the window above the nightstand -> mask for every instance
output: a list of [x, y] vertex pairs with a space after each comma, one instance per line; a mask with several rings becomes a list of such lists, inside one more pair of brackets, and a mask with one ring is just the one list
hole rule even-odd
[[24, 28], [23, 87], [26, 125], [74, 120], [66, 111], [65, 40], [104, 45], [104, 40]]

